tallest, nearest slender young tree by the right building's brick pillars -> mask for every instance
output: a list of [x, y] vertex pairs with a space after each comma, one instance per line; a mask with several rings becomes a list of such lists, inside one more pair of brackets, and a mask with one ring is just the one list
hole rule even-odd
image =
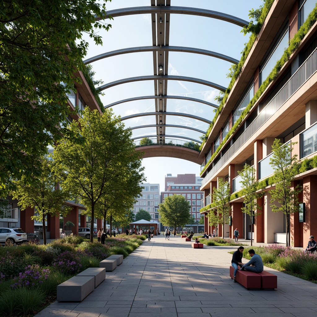
[[298, 174], [297, 154], [292, 154], [297, 142], [282, 144], [275, 139], [272, 145], [273, 156], [270, 165], [274, 170], [275, 188], [270, 190], [270, 207], [273, 212], [283, 212], [286, 216], [286, 246], [290, 246], [290, 215], [299, 211], [298, 195], [302, 186], [293, 186], [295, 176]]

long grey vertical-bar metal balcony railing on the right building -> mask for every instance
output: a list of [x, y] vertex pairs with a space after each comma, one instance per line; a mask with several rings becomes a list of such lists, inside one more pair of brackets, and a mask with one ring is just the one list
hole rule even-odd
[[202, 180], [202, 186], [256, 133], [281, 106], [317, 71], [317, 49], [297, 69], [262, 112], [246, 128], [236, 142]]

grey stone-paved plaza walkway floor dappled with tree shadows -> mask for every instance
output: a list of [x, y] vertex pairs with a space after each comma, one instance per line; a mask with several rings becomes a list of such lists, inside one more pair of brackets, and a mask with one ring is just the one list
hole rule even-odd
[[191, 248], [156, 236], [133, 251], [82, 302], [54, 302], [36, 317], [316, 317], [317, 285], [270, 268], [275, 290], [247, 290], [229, 277], [235, 247]]

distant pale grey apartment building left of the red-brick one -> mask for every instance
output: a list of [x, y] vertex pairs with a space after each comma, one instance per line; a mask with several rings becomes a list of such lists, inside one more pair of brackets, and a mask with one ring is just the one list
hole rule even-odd
[[133, 205], [133, 212], [136, 214], [140, 209], [144, 209], [151, 215], [151, 219], [159, 222], [159, 184], [142, 184], [143, 190], [137, 202]]

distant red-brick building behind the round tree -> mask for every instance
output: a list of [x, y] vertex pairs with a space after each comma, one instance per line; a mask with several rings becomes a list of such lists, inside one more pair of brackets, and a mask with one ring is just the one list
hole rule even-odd
[[[165, 176], [165, 191], [161, 192], [161, 201], [172, 195], [182, 195], [191, 204], [190, 213], [194, 218], [196, 225], [188, 224], [188, 226], [193, 226], [200, 231], [204, 225], [198, 225], [197, 221], [200, 219], [200, 208], [201, 200], [204, 198], [204, 192], [200, 191], [202, 178], [197, 177], [195, 174], [178, 174], [177, 176], [172, 176], [172, 174], [167, 174]], [[196, 231], [193, 230], [193, 231]]]

